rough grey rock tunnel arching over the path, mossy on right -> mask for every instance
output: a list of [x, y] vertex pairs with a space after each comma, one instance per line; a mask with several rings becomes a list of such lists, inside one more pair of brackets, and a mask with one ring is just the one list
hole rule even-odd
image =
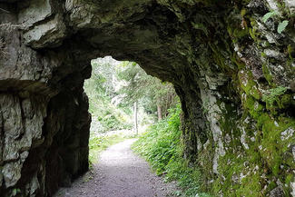
[[105, 55], [174, 85], [204, 190], [295, 196], [294, 15], [293, 0], [0, 0], [0, 196], [88, 170], [83, 84]]

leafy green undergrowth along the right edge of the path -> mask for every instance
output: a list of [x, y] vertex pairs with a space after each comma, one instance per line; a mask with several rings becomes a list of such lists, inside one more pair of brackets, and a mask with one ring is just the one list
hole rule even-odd
[[197, 167], [189, 166], [182, 158], [180, 113], [181, 107], [178, 104], [170, 110], [166, 119], [153, 124], [133, 143], [133, 150], [151, 163], [158, 175], [165, 174], [166, 181], [178, 182], [185, 196], [210, 196], [200, 193], [201, 172]]

